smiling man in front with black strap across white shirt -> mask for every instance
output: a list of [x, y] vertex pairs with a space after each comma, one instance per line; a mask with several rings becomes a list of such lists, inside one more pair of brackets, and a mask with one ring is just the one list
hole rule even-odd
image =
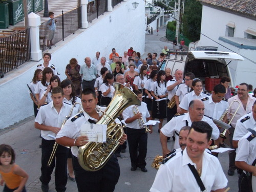
[[205, 151], [211, 144], [211, 133], [212, 128], [208, 123], [193, 122], [185, 150], [175, 153], [159, 167], [150, 191], [224, 192], [228, 181], [221, 164], [216, 157]]

